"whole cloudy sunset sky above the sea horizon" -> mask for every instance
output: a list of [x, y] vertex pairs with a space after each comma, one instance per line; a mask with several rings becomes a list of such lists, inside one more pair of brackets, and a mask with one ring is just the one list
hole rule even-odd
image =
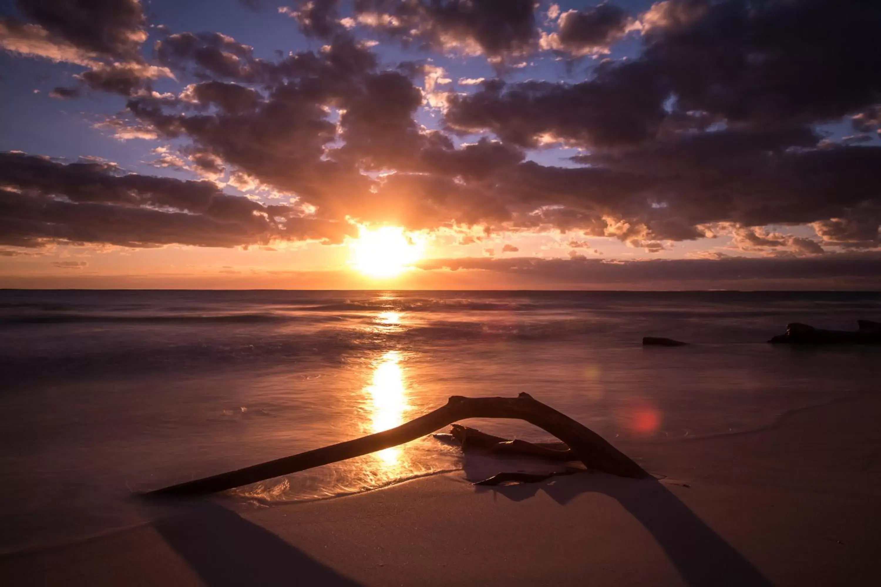
[[0, 287], [881, 289], [870, 0], [0, 0]]

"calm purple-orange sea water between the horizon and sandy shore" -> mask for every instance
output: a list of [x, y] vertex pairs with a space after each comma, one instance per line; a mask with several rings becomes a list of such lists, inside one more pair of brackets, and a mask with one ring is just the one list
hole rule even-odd
[[[135, 495], [388, 429], [450, 395], [530, 393], [636, 459], [759, 429], [877, 393], [881, 349], [766, 342], [788, 322], [863, 318], [881, 319], [881, 293], [3, 290], [0, 552], [174, 515]], [[217, 499], [272, 507], [461, 466], [426, 437]]]

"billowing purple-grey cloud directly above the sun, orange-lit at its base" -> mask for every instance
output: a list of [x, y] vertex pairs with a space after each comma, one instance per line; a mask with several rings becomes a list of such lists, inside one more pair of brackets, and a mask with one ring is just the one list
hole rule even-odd
[[[206, 55], [223, 53], [218, 43], [234, 48], [235, 68], [200, 56], [205, 47]], [[229, 165], [337, 219], [369, 210], [377, 199], [369, 192], [375, 181], [362, 171], [408, 165], [431, 143], [413, 120], [418, 88], [398, 71], [377, 70], [375, 56], [351, 38], [278, 62], [255, 60], [242, 47], [189, 33], [161, 41], [159, 54], [175, 69], [196, 62], [231, 81], [191, 84], [181, 99], [132, 99], [130, 115], [159, 136], [189, 137], [215, 170]], [[253, 80], [263, 86], [246, 85]]]

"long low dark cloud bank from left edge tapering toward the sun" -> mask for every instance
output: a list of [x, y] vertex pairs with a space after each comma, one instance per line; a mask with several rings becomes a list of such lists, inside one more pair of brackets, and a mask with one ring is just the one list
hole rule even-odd
[[223, 194], [209, 181], [122, 174], [107, 163], [4, 153], [0, 184], [0, 243], [8, 246], [239, 246], [353, 234], [349, 224]]

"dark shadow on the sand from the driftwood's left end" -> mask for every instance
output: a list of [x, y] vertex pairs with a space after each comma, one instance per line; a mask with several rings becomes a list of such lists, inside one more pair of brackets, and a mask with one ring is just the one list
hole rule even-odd
[[153, 526], [205, 585], [304, 584], [360, 587], [272, 532], [216, 503]]

